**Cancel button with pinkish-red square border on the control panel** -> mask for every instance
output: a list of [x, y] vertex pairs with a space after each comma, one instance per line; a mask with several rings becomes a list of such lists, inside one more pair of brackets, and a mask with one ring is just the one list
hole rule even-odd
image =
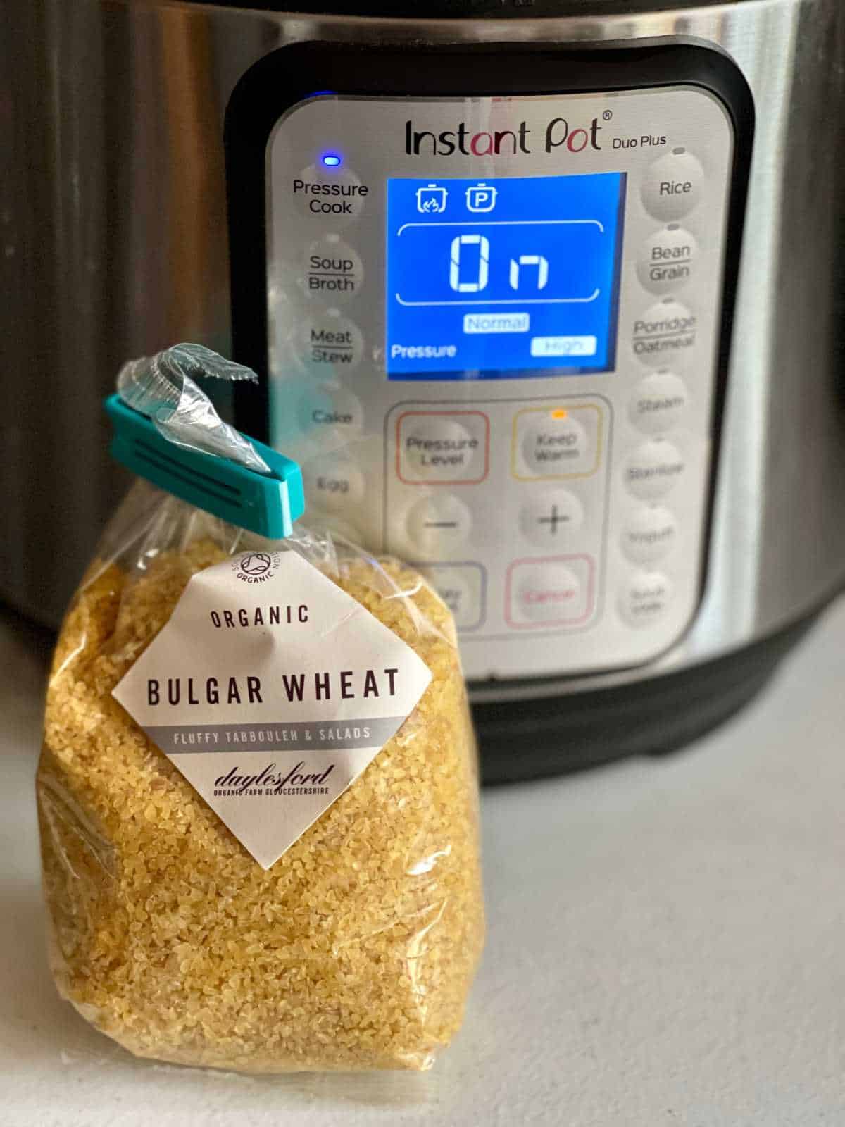
[[505, 600], [505, 618], [516, 630], [581, 625], [593, 612], [593, 559], [516, 560], [508, 568]]

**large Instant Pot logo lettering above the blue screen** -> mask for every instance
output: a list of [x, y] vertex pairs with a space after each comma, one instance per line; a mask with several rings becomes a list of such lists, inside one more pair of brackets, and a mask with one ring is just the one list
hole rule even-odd
[[[586, 125], [570, 124], [566, 117], [553, 117], [545, 130], [532, 131], [525, 122], [513, 130], [490, 130], [473, 133], [463, 122], [454, 130], [433, 133], [417, 130], [412, 121], [404, 123], [404, 151], [409, 157], [515, 157], [517, 153], [537, 151], [582, 152], [585, 149], [601, 151], [598, 134], [602, 126], [594, 117]], [[539, 135], [537, 135], [539, 134]]]

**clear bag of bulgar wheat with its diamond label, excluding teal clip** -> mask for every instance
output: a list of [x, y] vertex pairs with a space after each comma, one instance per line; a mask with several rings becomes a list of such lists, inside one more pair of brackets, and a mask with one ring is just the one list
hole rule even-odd
[[[186, 372], [214, 355], [155, 362], [177, 392], [150, 412], [159, 432], [231, 454], [213, 409], [210, 442], [186, 407], [196, 420]], [[417, 573], [300, 525], [267, 540], [139, 482], [50, 678], [37, 799], [56, 985], [139, 1056], [426, 1068], [482, 946], [477, 795], [454, 623]]]

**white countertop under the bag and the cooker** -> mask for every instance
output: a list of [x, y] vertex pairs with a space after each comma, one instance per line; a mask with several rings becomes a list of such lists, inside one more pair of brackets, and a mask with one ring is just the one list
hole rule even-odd
[[425, 1075], [136, 1062], [55, 994], [33, 773], [44, 658], [0, 620], [0, 1125], [842, 1127], [845, 602], [688, 751], [483, 797], [489, 940]]

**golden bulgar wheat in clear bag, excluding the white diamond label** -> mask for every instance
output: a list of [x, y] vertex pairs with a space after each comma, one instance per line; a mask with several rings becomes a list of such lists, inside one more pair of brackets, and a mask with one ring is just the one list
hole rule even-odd
[[364, 773], [264, 870], [112, 696], [195, 573], [260, 547], [133, 487], [61, 630], [37, 774], [61, 994], [146, 1057], [244, 1072], [426, 1068], [483, 912], [474, 740], [444, 603], [328, 532], [295, 551], [432, 672]]

